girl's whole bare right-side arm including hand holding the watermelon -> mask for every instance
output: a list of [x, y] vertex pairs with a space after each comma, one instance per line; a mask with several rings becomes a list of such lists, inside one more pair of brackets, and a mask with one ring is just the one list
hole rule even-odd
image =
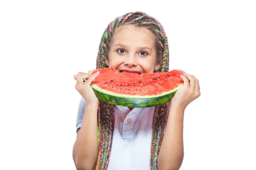
[[184, 156], [184, 111], [190, 102], [201, 95], [198, 79], [189, 74], [183, 74], [180, 77], [183, 79], [184, 85], [171, 100], [166, 132], [158, 154], [158, 170], [178, 170], [180, 168]]

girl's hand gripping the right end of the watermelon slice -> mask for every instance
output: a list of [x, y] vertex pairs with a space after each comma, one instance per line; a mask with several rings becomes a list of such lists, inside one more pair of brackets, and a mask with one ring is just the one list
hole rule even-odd
[[198, 79], [194, 76], [183, 74], [180, 77], [183, 79], [184, 85], [175, 93], [171, 104], [185, 109], [189, 103], [201, 95], [200, 86]]

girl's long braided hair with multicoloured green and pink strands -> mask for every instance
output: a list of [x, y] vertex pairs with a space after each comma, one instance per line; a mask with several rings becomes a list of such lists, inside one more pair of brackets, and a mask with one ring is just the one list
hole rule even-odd
[[[105, 57], [110, 49], [111, 40], [116, 28], [120, 26], [133, 25], [147, 28], [155, 36], [157, 47], [157, 57], [161, 60], [160, 68], [156, 71], [169, 71], [169, 48], [168, 41], [163, 30], [163, 26], [148, 14], [137, 11], [129, 12], [113, 20], [102, 35], [99, 45], [99, 53], [96, 60], [96, 68], [106, 68]], [[154, 71], [154, 72], [156, 72]], [[151, 170], [157, 170], [157, 156], [163, 139], [163, 131], [166, 122], [166, 104], [155, 107], [152, 122], [152, 142], [151, 142]], [[99, 101], [98, 108], [98, 158], [95, 165], [96, 170], [106, 170], [111, 154], [114, 130], [114, 105]]]

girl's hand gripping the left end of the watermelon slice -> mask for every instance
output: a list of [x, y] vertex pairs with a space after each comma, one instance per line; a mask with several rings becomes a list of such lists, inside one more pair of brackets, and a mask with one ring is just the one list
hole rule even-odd
[[78, 72], [74, 79], [76, 79], [76, 90], [84, 98], [86, 104], [96, 103], [98, 104], [98, 98], [96, 97], [93, 88], [91, 88], [92, 81], [99, 75], [99, 72], [96, 72], [92, 76], [87, 73]]

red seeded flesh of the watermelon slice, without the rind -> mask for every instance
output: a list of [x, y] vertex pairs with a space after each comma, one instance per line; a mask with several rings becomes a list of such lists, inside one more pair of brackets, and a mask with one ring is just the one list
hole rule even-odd
[[137, 73], [119, 73], [111, 68], [99, 68], [90, 71], [90, 74], [92, 75], [97, 71], [100, 74], [93, 80], [92, 84], [106, 91], [132, 96], [155, 96], [172, 91], [183, 84], [180, 75], [185, 73], [181, 70], [172, 70], [140, 75]]

